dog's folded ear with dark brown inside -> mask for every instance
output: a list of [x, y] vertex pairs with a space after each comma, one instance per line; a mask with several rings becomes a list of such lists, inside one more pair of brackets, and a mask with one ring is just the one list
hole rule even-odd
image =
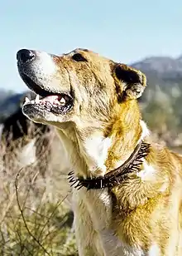
[[117, 92], [127, 99], [139, 98], [142, 92], [146, 88], [146, 76], [135, 68], [124, 65], [116, 64], [114, 67], [114, 75], [117, 79], [117, 85], [119, 81], [119, 91]]

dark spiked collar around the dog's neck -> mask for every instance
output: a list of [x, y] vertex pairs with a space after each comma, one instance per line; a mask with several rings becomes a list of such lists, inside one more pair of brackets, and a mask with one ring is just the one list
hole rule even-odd
[[104, 188], [113, 188], [116, 185], [120, 185], [122, 180], [127, 178], [128, 174], [136, 173], [139, 170], [143, 158], [148, 155], [150, 151], [150, 144], [141, 141], [136, 145], [132, 155], [117, 169], [109, 171], [104, 176], [98, 176], [95, 178], [74, 177], [74, 171], [69, 172], [68, 180], [69, 184], [80, 190], [85, 187], [87, 190], [103, 190]]

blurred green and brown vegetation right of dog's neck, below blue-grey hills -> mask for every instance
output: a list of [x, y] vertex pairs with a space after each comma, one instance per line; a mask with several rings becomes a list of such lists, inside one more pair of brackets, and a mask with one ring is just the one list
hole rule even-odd
[[182, 83], [148, 86], [141, 98], [143, 120], [165, 145], [182, 146]]

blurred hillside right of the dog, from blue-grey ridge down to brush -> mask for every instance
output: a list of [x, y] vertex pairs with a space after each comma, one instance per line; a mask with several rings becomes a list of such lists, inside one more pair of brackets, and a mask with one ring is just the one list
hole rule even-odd
[[180, 150], [182, 145], [182, 56], [147, 57], [132, 66], [146, 74], [147, 88], [139, 100], [144, 120], [156, 140]]

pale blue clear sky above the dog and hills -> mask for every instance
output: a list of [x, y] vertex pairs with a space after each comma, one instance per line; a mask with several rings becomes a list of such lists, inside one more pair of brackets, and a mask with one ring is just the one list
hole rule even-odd
[[92, 49], [118, 62], [182, 54], [181, 0], [4, 0], [0, 9], [0, 88], [25, 91], [16, 52]]

